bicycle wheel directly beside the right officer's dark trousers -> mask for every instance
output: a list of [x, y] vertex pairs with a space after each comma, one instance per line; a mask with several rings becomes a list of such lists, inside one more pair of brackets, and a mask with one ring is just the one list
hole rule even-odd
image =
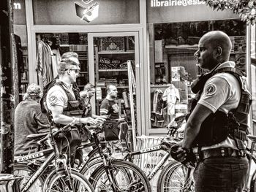
[[170, 162], [162, 169], [157, 182], [157, 192], [187, 191], [194, 192], [194, 180], [189, 175], [186, 180], [187, 166], [180, 162]]

